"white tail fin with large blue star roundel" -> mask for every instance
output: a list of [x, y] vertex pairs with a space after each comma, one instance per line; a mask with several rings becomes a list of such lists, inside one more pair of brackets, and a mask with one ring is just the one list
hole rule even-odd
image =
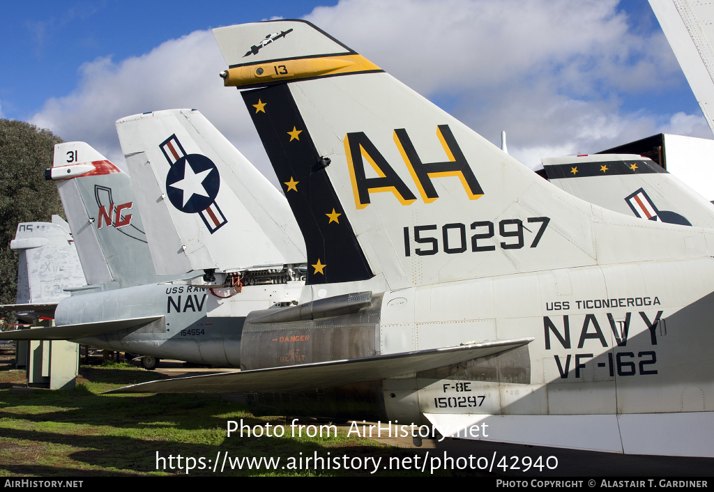
[[128, 116], [116, 129], [159, 273], [305, 262], [284, 197], [199, 111]]

